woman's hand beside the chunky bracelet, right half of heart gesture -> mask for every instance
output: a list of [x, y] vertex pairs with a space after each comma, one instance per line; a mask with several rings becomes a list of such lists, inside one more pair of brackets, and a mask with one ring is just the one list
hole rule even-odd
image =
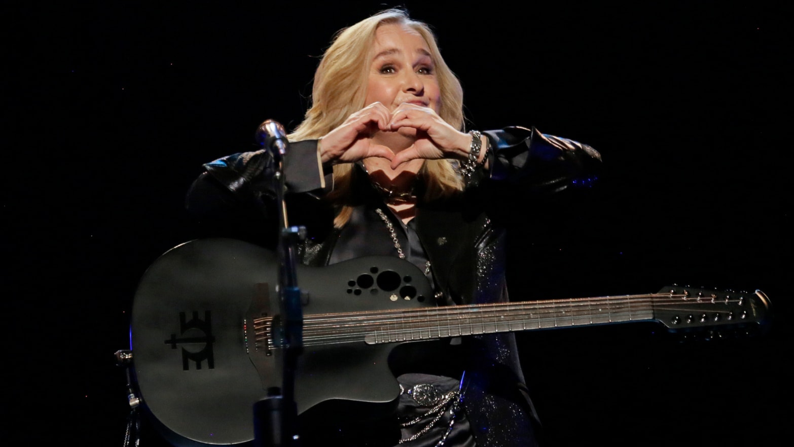
[[391, 114], [388, 128], [416, 129], [416, 141], [391, 159], [391, 168], [415, 159], [438, 160], [455, 158], [465, 160], [471, 148], [472, 137], [441, 119], [430, 107], [410, 103], [400, 104]]

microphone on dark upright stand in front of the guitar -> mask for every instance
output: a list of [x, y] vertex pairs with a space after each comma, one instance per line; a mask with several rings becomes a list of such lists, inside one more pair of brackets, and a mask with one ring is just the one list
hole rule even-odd
[[[263, 145], [272, 153], [276, 166], [273, 175], [276, 205], [279, 214], [279, 307], [280, 320], [272, 326], [276, 348], [283, 353], [282, 387], [268, 389], [268, 397], [254, 403], [255, 447], [299, 447], [298, 411], [295, 405], [295, 369], [303, 352], [303, 309], [296, 275], [297, 245], [306, 237], [303, 226], [289, 226], [284, 202], [283, 156], [287, 138], [276, 121], [265, 121], [260, 133], [267, 137]], [[278, 352], [278, 349], [277, 349]], [[278, 353], [276, 353], [276, 356]]]

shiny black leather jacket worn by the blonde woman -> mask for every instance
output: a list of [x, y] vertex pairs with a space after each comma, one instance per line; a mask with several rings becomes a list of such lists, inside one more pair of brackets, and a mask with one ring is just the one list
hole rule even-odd
[[[416, 232], [433, 266], [441, 305], [505, 302], [505, 226], [522, 218], [534, 195], [588, 186], [600, 166], [600, 155], [588, 145], [508, 127], [484, 132], [491, 142], [488, 170], [476, 171], [454, 198], [417, 204]], [[291, 225], [306, 226], [300, 249], [307, 265], [330, 260], [340, 230], [333, 228], [333, 206], [323, 196], [330, 189], [331, 167], [323, 189], [317, 175], [316, 141], [291, 143], [284, 160], [287, 215]], [[314, 168], [312, 165], [314, 164]], [[272, 173], [275, 164], [266, 151], [243, 152], [214, 160], [204, 167], [187, 196], [187, 208], [206, 223], [216, 222], [214, 235], [228, 235], [262, 245], [264, 222], [273, 219]], [[364, 209], [383, 205], [369, 194], [364, 173], [354, 177]], [[269, 214], [269, 216], [268, 216]], [[269, 218], [269, 220], [268, 220]], [[229, 224], [229, 222], [233, 222]], [[233, 234], [222, 229], [233, 227]], [[529, 399], [513, 333], [464, 337], [466, 389], [464, 406], [477, 445], [536, 445], [537, 416]]]

